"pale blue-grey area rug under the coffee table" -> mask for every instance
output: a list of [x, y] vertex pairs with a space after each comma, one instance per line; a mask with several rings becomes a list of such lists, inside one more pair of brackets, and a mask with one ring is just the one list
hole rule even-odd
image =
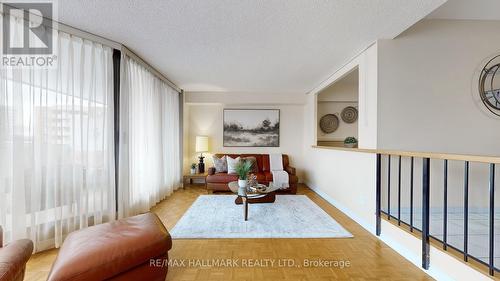
[[170, 231], [190, 238], [347, 238], [352, 234], [305, 195], [249, 204], [248, 221], [235, 195], [200, 195]]

